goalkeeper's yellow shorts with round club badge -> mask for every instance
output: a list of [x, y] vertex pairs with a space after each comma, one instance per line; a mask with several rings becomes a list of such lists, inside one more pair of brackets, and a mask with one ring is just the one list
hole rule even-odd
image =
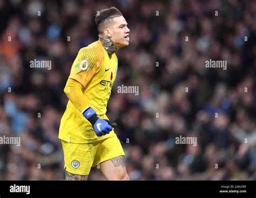
[[112, 136], [95, 143], [74, 144], [62, 140], [64, 169], [78, 174], [89, 175], [91, 167], [103, 161], [125, 155], [117, 136]]

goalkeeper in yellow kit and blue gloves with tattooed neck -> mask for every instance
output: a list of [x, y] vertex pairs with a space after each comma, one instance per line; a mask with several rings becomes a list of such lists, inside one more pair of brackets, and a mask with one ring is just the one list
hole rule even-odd
[[60, 122], [59, 139], [66, 180], [87, 180], [91, 167], [98, 164], [107, 180], [129, 180], [125, 154], [106, 107], [117, 75], [115, 52], [129, 45], [130, 30], [114, 7], [101, 10], [95, 22], [99, 40], [79, 50], [64, 88], [69, 102]]

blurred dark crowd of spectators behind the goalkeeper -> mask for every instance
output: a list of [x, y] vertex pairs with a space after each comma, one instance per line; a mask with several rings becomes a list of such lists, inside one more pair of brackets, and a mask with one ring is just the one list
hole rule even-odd
[[[110, 6], [131, 30], [107, 108], [130, 179], [256, 180], [256, 2], [239, 0], [0, 0], [0, 136], [21, 137], [0, 144], [0, 180], [65, 179], [63, 89]], [[51, 69], [31, 68], [34, 59]], [[206, 68], [210, 59], [227, 69]], [[122, 84], [139, 94], [117, 93]], [[104, 180], [97, 168], [89, 179]]]

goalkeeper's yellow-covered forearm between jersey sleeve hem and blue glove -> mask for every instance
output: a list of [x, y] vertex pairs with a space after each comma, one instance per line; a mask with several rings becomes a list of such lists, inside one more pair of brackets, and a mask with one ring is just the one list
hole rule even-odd
[[79, 111], [87, 107], [82, 89], [83, 85], [73, 79], [68, 79], [64, 88], [64, 93]]

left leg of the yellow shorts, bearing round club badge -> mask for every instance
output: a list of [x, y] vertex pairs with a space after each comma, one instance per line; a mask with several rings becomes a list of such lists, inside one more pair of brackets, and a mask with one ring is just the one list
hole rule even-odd
[[89, 175], [99, 144], [73, 144], [62, 140], [64, 169], [76, 175]]

